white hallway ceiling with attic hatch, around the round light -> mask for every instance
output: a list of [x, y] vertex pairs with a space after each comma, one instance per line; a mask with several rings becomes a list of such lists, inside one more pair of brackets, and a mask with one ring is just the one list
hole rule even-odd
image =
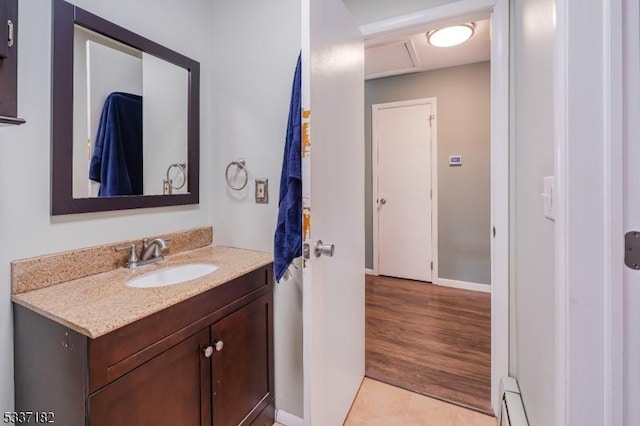
[[365, 44], [365, 79], [428, 71], [488, 61], [491, 57], [490, 20], [475, 22], [473, 37], [454, 47], [434, 47], [427, 42], [425, 30], [418, 34]]

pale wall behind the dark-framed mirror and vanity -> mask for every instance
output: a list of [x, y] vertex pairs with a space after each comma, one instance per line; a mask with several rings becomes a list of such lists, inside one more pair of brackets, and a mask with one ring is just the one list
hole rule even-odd
[[[55, 218], [49, 215], [51, 5], [49, 1], [21, 0], [18, 115], [27, 123], [0, 128], [0, 411], [13, 410], [14, 405], [10, 261], [212, 224], [210, 2], [75, 3], [201, 63], [200, 205]], [[176, 37], [176, 33], [181, 36]]]

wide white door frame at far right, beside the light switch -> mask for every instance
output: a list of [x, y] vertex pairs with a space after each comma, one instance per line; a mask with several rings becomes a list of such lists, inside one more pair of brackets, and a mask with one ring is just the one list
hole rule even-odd
[[613, 426], [624, 422], [623, 28], [631, 18], [604, 0], [556, 0], [555, 11], [555, 422]]

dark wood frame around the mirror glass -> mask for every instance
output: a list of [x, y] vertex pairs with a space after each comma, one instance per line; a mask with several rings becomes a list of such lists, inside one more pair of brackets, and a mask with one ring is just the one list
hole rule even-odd
[[[73, 37], [75, 24], [149, 53], [188, 71], [188, 194], [133, 195], [104, 198], [73, 197]], [[200, 175], [200, 64], [198, 62], [63, 0], [53, 1], [53, 48], [51, 59], [52, 215], [198, 204]]]

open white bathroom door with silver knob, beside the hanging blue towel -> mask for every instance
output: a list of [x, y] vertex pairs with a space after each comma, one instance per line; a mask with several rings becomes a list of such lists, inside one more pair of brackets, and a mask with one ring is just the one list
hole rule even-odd
[[302, 4], [304, 421], [338, 426], [364, 377], [364, 46], [341, 0]]

